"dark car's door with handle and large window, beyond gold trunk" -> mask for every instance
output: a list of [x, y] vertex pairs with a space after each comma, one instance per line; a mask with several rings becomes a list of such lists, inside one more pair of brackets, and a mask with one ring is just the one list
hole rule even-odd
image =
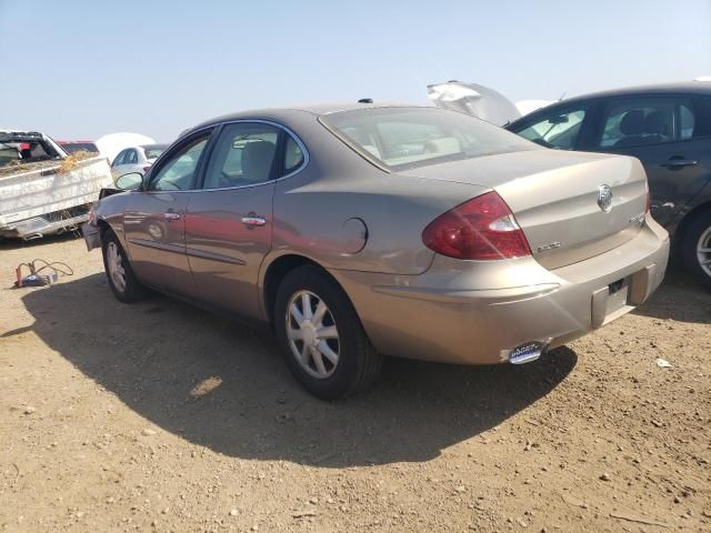
[[702, 102], [685, 94], [615, 98], [605, 102], [594, 151], [638, 158], [650, 187], [651, 213], [662, 225], [711, 177], [709, 125]]

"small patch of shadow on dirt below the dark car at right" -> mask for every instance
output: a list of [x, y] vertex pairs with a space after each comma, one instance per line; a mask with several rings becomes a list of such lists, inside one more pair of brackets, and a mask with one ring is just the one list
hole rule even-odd
[[679, 322], [711, 323], [711, 293], [673, 261], [664, 282], [634, 314]]

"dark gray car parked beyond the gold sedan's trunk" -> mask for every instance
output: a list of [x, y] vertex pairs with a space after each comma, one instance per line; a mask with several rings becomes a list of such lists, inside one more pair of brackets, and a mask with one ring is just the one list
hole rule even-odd
[[548, 148], [638, 158], [649, 179], [652, 217], [711, 289], [711, 82], [585, 94], [505, 128]]

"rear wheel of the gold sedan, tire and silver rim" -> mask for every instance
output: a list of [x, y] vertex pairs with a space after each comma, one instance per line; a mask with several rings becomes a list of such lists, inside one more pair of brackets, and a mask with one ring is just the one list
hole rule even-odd
[[382, 355], [348, 295], [317, 266], [299, 266], [284, 276], [273, 316], [287, 365], [314, 396], [353, 394], [380, 374]]

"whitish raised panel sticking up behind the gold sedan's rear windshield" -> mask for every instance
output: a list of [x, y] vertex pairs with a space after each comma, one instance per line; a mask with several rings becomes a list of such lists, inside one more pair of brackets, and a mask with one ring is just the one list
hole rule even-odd
[[448, 81], [427, 86], [427, 92], [439, 108], [469, 113], [492, 124], [505, 125], [521, 117], [511, 100], [477, 83]]

